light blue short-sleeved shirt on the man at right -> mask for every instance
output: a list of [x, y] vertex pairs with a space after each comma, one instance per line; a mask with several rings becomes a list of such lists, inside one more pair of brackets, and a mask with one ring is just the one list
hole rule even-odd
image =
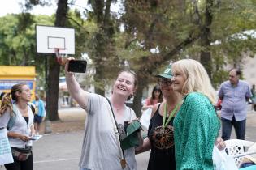
[[223, 82], [219, 88], [219, 98], [222, 100], [221, 117], [232, 120], [235, 116], [236, 121], [246, 119], [246, 98], [251, 97], [249, 84], [239, 80], [236, 87], [229, 81]]

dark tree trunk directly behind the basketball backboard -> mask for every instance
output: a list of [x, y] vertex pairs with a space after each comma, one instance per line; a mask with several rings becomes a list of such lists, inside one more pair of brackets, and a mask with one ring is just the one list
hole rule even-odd
[[[66, 23], [67, 0], [59, 0], [54, 25], [63, 27]], [[59, 63], [55, 56], [49, 58], [48, 91], [46, 94], [47, 114], [50, 121], [58, 121], [58, 100], [59, 100]]]

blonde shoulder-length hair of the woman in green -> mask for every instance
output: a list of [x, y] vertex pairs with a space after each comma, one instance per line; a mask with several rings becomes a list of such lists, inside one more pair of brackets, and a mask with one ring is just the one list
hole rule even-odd
[[182, 59], [174, 62], [171, 70], [172, 73], [179, 72], [184, 75], [185, 82], [181, 91], [182, 95], [188, 95], [193, 91], [200, 92], [208, 97], [212, 104], [215, 104], [215, 89], [210, 83], [206, 69], [200, 62], [193, 59]]

